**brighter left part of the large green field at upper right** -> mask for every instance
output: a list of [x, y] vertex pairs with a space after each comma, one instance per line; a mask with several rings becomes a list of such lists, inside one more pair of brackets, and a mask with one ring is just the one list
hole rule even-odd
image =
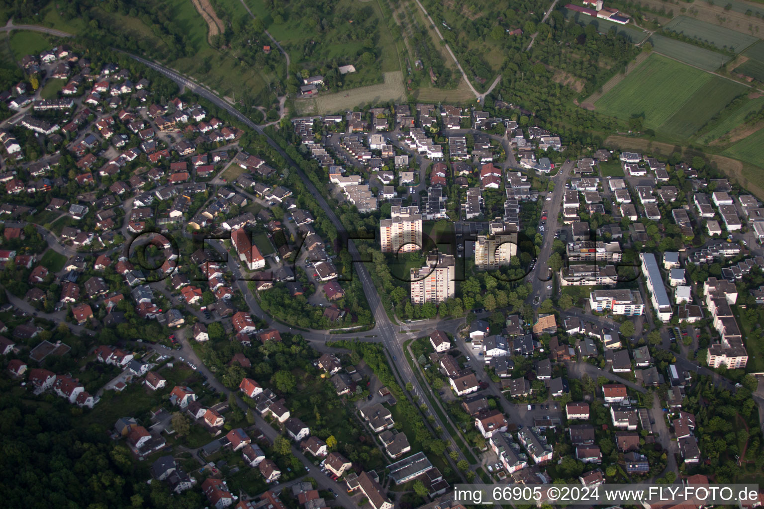
[[[685, 102], [695, 102], [695, 92], [710, 81], [711, 75], [707, 72], [652, 54], [597, 101], [597, 111], [623, 120], [641, 116], [645, 127], [657, 129]], [[709, 104], [720, 101], [711, 96], [698, 98], [697, 102], [698, 107], [708, 108]]]

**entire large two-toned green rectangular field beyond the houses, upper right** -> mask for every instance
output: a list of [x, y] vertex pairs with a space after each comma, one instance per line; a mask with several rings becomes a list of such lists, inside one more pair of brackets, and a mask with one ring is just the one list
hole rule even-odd
[[[724, 93], [714, 92], [707, 95], [707, 91], [714, 89], [714, 86], [724, 89]], [[742, 85], [739, 86], [742, 89]], [[703, 92], [705, 95], [697, 92]], [[597, 101], [596, 107], [597, 111], [623, 120], [639, 115], [643, 117], [645, 127], [656, 130], [663, 128], [670, 134], [688, 136], [688, 133], [697, 130], [699, 125], [724, 108], [731, 99], [730, 94], [734, 96], [736, 93], [739, 92], [722, 82], [717, 82], [714, 76], [707, 72], [685, 66], [665, 56], [652, 54], [641, 66], [603, 95]], [[694, 130], [681, 123], [681, 116], [675, 117], [675, 114], [688, 112], [691, 112], [688, 124], [699, 124]], [[671, 120], [672, 118], [676, 120]], [[664, 124], [665, 127], [662, 127]]]

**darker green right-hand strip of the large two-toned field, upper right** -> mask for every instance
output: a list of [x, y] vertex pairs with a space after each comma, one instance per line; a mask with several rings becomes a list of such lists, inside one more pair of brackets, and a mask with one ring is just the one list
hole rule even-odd
[[711, 76], [711, 79], [684, 105], [681, 105], [681, 108], [660, 128], [667, 133], [690, 137], [715, 114], [722, 111], [733, 98], [747, 90], [748, 87], [740, 83], [719, 76]]

